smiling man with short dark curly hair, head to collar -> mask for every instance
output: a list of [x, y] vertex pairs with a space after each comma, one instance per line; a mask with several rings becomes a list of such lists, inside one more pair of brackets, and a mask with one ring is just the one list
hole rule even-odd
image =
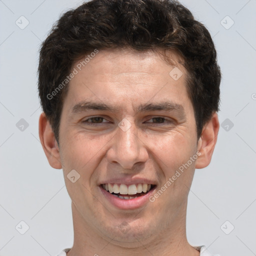
[[59, 255], [209, 255], [185, 220], [219, 83], [209, 32], [177, 1], [91, 0], [60, 17], [38, 67], [40, 141], [72, 201]]

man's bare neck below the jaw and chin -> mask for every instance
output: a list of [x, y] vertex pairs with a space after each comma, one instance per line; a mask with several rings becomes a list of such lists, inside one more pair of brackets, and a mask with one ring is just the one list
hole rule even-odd
[[183, 214], [177, 214], [175, 221], [165, 223], [164, 228], [155, 230], [150, 237], [134, 236], [134, 242], [122, 242], [115, 235], [103, 235], [91, 223], [86, 222], [73, 203], [72, 215], [74, 242], [67, 256], [199, 256], [199, 251], [194, 249], [186, 238], [186, 205], [183, 207]]

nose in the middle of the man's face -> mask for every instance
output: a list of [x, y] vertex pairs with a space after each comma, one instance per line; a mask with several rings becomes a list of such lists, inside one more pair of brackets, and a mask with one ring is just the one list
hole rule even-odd
[[148, 159], [145, 142], [141, 141], [138, 129], [132, 123], [127, 130], [117, 127], [111, 147], [107, 151], [107, 160], [118, 163], [123, 169], [132, 169], [136, 163], [144, 163]]

